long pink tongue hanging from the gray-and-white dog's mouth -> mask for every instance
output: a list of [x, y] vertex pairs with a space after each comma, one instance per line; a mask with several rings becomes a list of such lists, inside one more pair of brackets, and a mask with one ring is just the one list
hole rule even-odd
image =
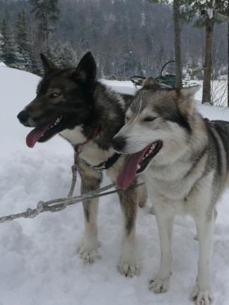
[[116, 180], [116, 184], [118, 185], [118, 187], [120, 187], [120, 189], [127, 189], [128, 187], [130, 187], [132, 181], [135, 179], [137, 165], [142, 160], [144, 153], [147, 151], [148, 148], [149, 147], [146, 147], [142, 151], [139, 151], [136, 154], [132, 154], [128, 157], [127, 161], [125, 161], [123, 169]]

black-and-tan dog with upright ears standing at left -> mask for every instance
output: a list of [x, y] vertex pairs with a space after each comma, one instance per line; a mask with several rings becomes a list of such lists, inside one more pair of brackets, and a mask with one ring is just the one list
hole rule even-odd
[[[97, 68], [90, 52], [83, 56], [76, 68], [64, 70], [44, 55], [41, 57], [44, 77], [37, 87], [37, 97], [18, 114], [20, 123], [35, 127], [35, 131], [27, 136], [27, 145], [32, 147], [37, 141], [45, 142], [56, 133], [73, 147], [83, 143], [79, 158], [81, 192], [99, 189], [102, 172], [92, 166], [113, 156], [111, 141], [125, 123], [130, 97], [117, 94], [97, 81]], [[54, 127], [49, 129], [50, 125]], [[108, 169], [113, 182], [116, 182], [124, 161], [125, 156], [120, 156]], [[135, 258], [137, 204], [144, 204], [147, 192], [145, 188], [130, 189], [120, 192], [119, 197], [123, 211], [123, 241], [118, 270], [125, 276], [132, 276], [139, 273]], [[99, 256], [98, 199], [85, 201], [83, 208], [85, 236], [78, 252], [85, 262], [92, 263]]]

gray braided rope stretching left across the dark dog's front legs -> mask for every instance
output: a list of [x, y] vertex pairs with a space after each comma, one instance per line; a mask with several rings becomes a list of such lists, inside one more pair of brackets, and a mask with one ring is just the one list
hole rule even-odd
[[[139, 187], [140, 185], [143, 184], [144, 182], [139, 183], [137, 185], [133, 185], [132, 187], [129, 187], [129, 189], [134, 189], [135, 187]], [[39, 213], [44, 213], [47, 211], [49, 212], [62, 211], [67, 206], [78, 204], [78, 202], [82, 202], [84, 200], [103, 197], [109, 194], [123, 191], [123, 189], [114, 189], [113, 191], [105, 192], [113, 187], [116, 186], [111, 184], [111, 185], [106, 185], [106, 187], [102, 187], [101, 189], [97, 189], [96, 191], [88, 192], [87, 194], [82, 194], [81, 196], [53, 199], [49, 201], [39, 201], [36, 208], [27, 208], [25, 212], [0, 217], [0, 223], [5, 223], [6, 221], [11, 221], [16, 218], [35, 218], [37, 215], [39, 215]]]

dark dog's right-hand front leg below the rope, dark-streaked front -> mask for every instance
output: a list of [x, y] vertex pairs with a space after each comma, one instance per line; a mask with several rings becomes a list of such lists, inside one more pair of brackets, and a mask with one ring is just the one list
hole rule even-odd
[[120, 205], [123, 212], [123, 238], [118, 271], [126, 277], [140, 273], [140, 266], [135, 257], [135, 222], [137, 216], [137, 189], [119, 192]]

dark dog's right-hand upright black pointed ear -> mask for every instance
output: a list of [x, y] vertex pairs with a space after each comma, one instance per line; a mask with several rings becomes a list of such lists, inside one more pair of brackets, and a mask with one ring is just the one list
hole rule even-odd
[[91, 52], [87, 52], [73, 72], [73, 79], [82, 83], [94, 84], [97, 77], [97, 64]]

